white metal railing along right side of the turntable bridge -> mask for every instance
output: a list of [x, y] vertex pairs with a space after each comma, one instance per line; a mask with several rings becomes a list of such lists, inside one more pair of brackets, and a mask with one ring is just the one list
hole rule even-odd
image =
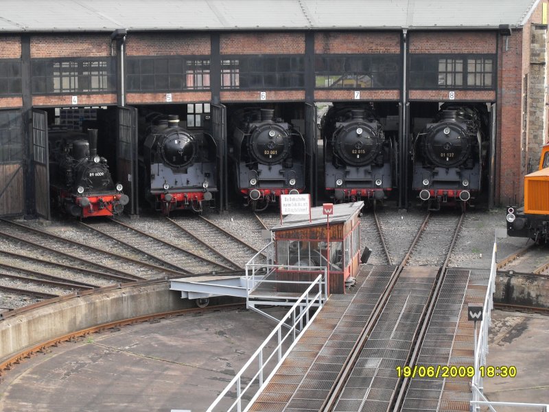
[[[491, 402], [486, 396], [484, 396], [482, 387], [482, 375], [480, 374], [480, 367], [486, 367], [486, 355], [488, 354], [488, 337], [489, 328], [491, 325], [491, 310], [493, 309], [493, 293], [495, 292], [495, 276], [497, 275], [496, 265], [496, 252], [498, 250], [498, 244], [494, 241], [492, 251], [492, 263], [490, 268], [490, 278], [488, 281], [488, 287], [486, 290], [486, 297], [484, 297], [484, 307], [482, 310], [482, 321], [480, 322], [480, 331], [478, 333], [478, 341], [476, 341], [476, 325], [475, 325], [475, 375], [471, 382], [472, 400], [471, 411], [479, 411], [480, 406], [488, 407], [490, 411], [496, 412], [494, 406], [502, 407], [520, 407], [520, 408], [534, 408], [537, 411], [549, 412], [549, 405], [547, 404], [533, 404], [533, 403], [519, 403], [519, 402]], [[475, 322], [476, 323], [476, 322]], [[484, 369], [486, 370], [486, 369]]]

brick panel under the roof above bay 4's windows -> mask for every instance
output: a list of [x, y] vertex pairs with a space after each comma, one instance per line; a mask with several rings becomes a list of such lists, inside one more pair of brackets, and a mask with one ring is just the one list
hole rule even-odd
[[[113, 50], [116, 51], [116, 47]], [[110, 55], [108, 34], [40, 34], [30, 39], [31, 58]]]

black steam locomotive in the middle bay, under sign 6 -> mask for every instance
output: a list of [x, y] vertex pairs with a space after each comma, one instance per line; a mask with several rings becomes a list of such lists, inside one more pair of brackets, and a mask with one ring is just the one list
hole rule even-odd
[[305, 140], [270, 109], [245, 108], [232, 118], [230, 156], [246, 205], [264, 210], [281, 194], [305, 190]]

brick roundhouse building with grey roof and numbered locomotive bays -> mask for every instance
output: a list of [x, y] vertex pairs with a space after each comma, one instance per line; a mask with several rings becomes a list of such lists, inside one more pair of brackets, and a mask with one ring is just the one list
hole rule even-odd
[[[547, 1], [7, 0], [0, 16], [0, 216], [49, 216], [47, 130], [99, 130], [99, 150], [138, 213], [140, 125], [179, 115], [217, 144], [231, 196], [231, 113], [274, 109], [303, 134], [317, 173], [316, 104], [369, 102], [410, 193], [414, 135], [444, 102], [486, 104], [484, 201], [522, 196], [547, 141]], [[319, 177], [320, 176], [320, 177]]]

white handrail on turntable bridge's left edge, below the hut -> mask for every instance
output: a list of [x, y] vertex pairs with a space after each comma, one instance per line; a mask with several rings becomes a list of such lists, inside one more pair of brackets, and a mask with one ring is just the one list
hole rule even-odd
[[[316, 288], [317, 286], [318, 286], [318, 292], [313, 296], [309, 296], [309, 293], [312, 293], [313, 288]], [[233, 402], [233, 404], [231, 404], [231, 406], [228, 409], [226, 409], [226, 411], [233, 411], [234, 408], [236, 407], [236, 410], [238, 412], [242, 412], [242, 397], [244, 396], [244, 393], [246, 393], [246, 391], [248, 391], [248, 389], [250, 389], [252, 385], [259, 384], [259, 388], [257, 389], [257, 392], [255, 393], [253, 398], [251, 398], [251, 400], [248, 402], [248, 406], [246, 407], [246, 409], [244, 409], [244, 411], [248, 410], [248, 408], [251, 406], [251, 404], [253, 404], [255, 399], [257, 399], [257, 396], [259, 396], [261, 389], [268, 384], [274, 372], [278, 369], [279, 365], [281, 365], [285, 357], [288, 356], [288, 353], [290, 352], [290, 350], [292, 350], [294, 345], [296, 345], [297, 341], [299, 341], [299, 339], [301, 338], [305, 330], [307, 330], [307, 327], [309, 326], [310, 322], [316, 317], [316, 314], [318, 314], [318, 312], [320, 311], [320, 308], [322, 308], [323, 303], [325, 301], [325, 299], [323, 298], [323, 286], [325, 286], [323, 275], [318, 275], [318, 277], [314, 279], [314, 282], [312, 282], [312, 284], [309, 285], [307, 290], [305, 290], [303, 295], [301, 295], [298, 301], [296, 301], [294, 306], [292, 306], [292, 308], [288, 311], [288, 313], [285, 314], [285, 316], [281, 319], [277, 327], [274, 328], [272, 332], [270, 332], [270, 334], [267, 336], [265, 341], [261, 344], [261, 346], [259, 346], [259, 349], [255, 351], [255, 353], [250, 357], [248, 362], [246, 362], [246, 364], [242, 367], [242, 369], [240, 369], [240, 371], [236, 374], [233, 380], [229, 382], [229, 385], [227, 385], [227, 387], [219, 394], [218, 398], [216, 398], [213, 404], [211, 404], [211, 406], [207, 409], [207, 412], [213, 411], [213, 409], [218, 406], [218, 404], [223, 400], [226, 394], [229, 393], [229, 391], [233, 387], [235, 387], [237, 391], [237, 399]], [[316, 304], [316, 301], [318, 301], [318, 304]], [[303, 302], [305, 302], [305, 304], [303, 304]], [[312, 314], [312, 316], [310, 316], [309, 309], [311, 309], [314, 306], [316, 307], [316, 311], [314, 312], [314, 314]], [[299, 309], [299, 314], [296, 315], [295, 311], [298, 309]], [[290, 330], [284, 336], [282, 336], [282, 327], [288, 326], [285, 322], [288, 321], [290, 317], [292, 317], [293, 325], [290, 327]], [[296, 330], [298, 329], [297, 326], [303, 325], [304, 317], [307, 323], [305, 326], [303, 326], [303, 328], [301, 329], [301, 332], [296, 336]], [[264, 359], [264, 353], [263, 353], [264, 348], [268, 345], [268, 343], [270, 343], [271, 339], [275, 334], [277, 335], [277, 345], [276, 347], [273, 348], [272, 353], [268, 355], [266, 359]], [[286, 339], [288, 339], [288, 337], [290, 336], [292, 336], [293, 342], [288, 347], [288, 349], [284, 352], [284, 354], [282, 354], [282, 345], [286, 341]], [[268, 362], [274, 358], [275, 355], [278, 356], [277, 365], [273, 367], [268, 378], [264, 380], [264, 368], [268, 364]], [[255, 361], [259, 361], [259, 369], [252, 378], [249, 378], [250, 382], [248, 383], [248, 385], [246, 385], [244, 389], [242, 389], [241, 384], [242, 384], [243, 374], [248, 369], [248, 367], [250, 367], [250, 365], [252, 365]], [[248, 379], [248, 377], [246, 377], [246, 379]]]

